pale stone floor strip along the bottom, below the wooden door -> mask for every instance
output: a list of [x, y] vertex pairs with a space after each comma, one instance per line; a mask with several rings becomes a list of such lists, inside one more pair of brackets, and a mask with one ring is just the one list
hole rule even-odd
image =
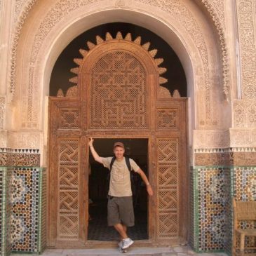
[[[18, 256], [19, 254], [12, 254], [13, 256]], [[36, 254], [29, 254], [27, 256], [35, 256]], [[115, 248], [100, 248], [100, 249], [76, 249], [76, 250], [45, 250], [42, 254], [43, 256], [114, 256], [114, 255], [137, 255], [137, 256], [227, 256], [225, 253], [200, 253], [196, 254], [193, 250], [184, 247], [162, 247], [162, 248], [137, 248], [131, 247], [128, 252], [121, 254], [119, 250]], [[20, 256], [26, 256], [25, 254], [20, 254]]]

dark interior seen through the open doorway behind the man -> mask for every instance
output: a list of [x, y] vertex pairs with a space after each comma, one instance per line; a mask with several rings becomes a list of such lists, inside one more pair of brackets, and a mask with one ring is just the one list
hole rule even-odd
[[[133, 159], [148, 176], [148, 140], [147, 139], [95, 139], [94, 147], [100, 156], [114, 156], [113, 144], [121, 141], [125, 144], [125, 155]], [[119, 241], [114, 227], [107, 226], [107, 193], [109, 189], [108, 173], [100, 163], [89, 156], [89, 215], [88, 240]], [[133, 240], [148, 239], [148, 203], [147, 190], [139, 175], [134, 176], [136, 193], [133, 196], [135, 226], [128, 228]]]

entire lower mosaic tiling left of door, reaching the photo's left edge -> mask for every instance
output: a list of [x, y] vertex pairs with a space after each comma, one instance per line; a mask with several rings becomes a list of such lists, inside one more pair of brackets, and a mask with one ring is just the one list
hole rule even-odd
[[46, 247], [46, 170], [0, 167], [1, 255]]

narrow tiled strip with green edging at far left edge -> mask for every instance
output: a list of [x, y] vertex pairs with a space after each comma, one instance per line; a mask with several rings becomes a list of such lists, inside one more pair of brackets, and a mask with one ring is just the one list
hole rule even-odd
[[0, 166], [0, 255], [11, 253], [11, 170]]

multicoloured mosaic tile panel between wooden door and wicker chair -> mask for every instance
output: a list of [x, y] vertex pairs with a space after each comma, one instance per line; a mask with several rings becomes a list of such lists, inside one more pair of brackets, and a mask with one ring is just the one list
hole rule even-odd
[[224, 166], [191, 169], [194, 231], [190, 241], [196, 252], [225, 250], [231, 196], [229, 176], [229, 169]]

